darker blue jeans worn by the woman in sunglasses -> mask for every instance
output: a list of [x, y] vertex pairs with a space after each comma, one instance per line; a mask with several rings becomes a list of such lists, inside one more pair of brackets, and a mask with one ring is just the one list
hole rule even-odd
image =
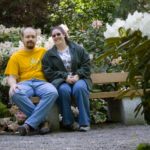
[[79, 109], [79, 125], [90, 125], [89, 90], [86, 82], [79, 80], [73, 85], [63, 83], [59, 86], [58, 93], [58, 105], [63, 117], [63, 124], [71, 125], [74, 122], [71, 111], [71, 97], [73, 96]]

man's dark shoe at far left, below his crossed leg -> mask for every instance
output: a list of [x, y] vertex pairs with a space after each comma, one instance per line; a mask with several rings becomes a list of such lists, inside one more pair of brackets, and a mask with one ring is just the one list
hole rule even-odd
[[21, 136], [25, 136], [30, 132], [30, 126], [28, 124], [23, 124], [22, 126], [18, 127], [18, 132]]

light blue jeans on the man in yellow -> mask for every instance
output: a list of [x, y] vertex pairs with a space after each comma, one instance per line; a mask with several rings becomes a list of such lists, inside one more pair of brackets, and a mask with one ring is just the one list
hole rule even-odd
[[[58, 92], [52, 84], [37, 79], [19, 82], [18, 85], [20, 89], [16, 89], [11, 99], [27, 115], [25, 123], [36, 129], [46, 120], [58, 98]], [[30, 100], [32, 96], [40, 98], [37, 105]]]

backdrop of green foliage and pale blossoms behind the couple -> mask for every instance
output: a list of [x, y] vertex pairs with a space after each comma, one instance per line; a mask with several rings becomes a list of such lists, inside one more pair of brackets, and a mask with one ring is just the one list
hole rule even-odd
[[[105, 24], [112, 23], [115, 17], [125, 18], [135, 10], [148, 12], [149, 8], [149, 0], [1, 0], [0, 24], [5, 27], [0, 26], [0, 50], [3, 58], [0, 100], [8, 103], [8, 87], [2, 85], [3, 72], [11, 51], [19, 45], [20, 27], [40, 28], [46, 34], [45, 37], [49, 37], [52, 26], [67, 24], [71, 39], [82, 44], [92, 54], [92, 71], [113, 72], [119, 71], [121, 64], [117, 66], [109, 57], [95, 63], [97, 56], [105, 53]], [[94, 28], [92, 22], [95, 20], [102, 21], [103, 26]]]

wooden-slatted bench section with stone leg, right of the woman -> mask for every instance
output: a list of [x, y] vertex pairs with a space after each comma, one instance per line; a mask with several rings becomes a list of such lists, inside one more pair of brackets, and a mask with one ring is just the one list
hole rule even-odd
[[[93, 84], [104, 85], [112, 83], [125, 83], [127, 80], [127, 72], [116, 73], [93, 73], [91, 75]], [[124, 93], [124, 94], [123, 94]], [[122, 96], [121, 96], [122, 95]], [[130, 97], [133, 97], [130, 98]], [[115, 122], [122, 122], [124, 124], [145, 124], [144, 115], [141, 115], [141, 111], [135, 118], [134, 110], [141, 103], [141, 97], [143, 90], [130, 89], [128, 92], [121, 90], [114, 91], [98, 91], [92, 92], [90, 98], [92, 99], [104, 99], [108, 102], [108, 114], [109, 119]]]

